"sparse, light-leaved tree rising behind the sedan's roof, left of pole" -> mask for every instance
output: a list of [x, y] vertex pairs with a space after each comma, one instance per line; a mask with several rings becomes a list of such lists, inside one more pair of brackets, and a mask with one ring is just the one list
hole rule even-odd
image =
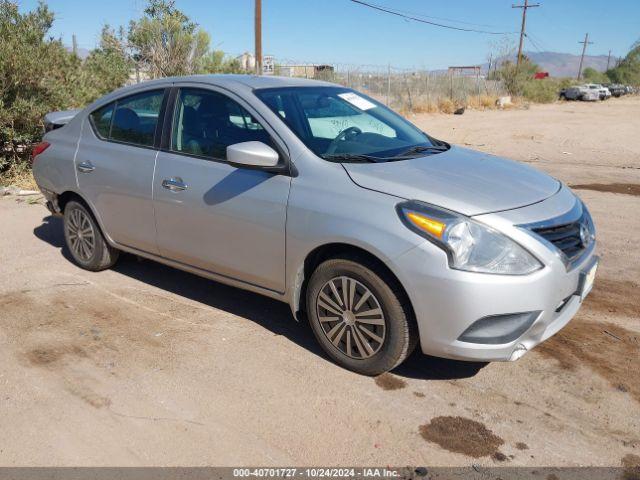
[[143, 17], [129, 25], [129, 45], [151, 78], [196, 73], [209, 50], [209, 34], [173, 0], [150, 0]]

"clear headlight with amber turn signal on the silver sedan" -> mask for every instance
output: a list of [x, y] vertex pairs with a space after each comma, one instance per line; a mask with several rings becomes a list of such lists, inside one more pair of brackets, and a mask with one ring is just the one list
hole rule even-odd
[[451, 268], [526, 275], [543, 267], [507, 236], [464, 215], [416, 201], [401, 203], [397, 210], [407, 227], [447, 252]]

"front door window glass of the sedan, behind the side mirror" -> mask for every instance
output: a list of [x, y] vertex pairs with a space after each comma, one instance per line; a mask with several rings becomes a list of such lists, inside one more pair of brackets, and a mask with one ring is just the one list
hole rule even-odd
[[271, 137], [242, 105], [210, 90], [183, 88], [176, 101], [171, 149], [221, 160], [227, 147]]

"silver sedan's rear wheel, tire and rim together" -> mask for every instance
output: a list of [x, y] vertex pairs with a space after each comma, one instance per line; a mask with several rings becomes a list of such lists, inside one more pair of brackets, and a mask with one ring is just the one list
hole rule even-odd
[[89, 209], [70, 201], [64, 208], [64, 239], [73, 262], [85, 270], [98, 272], [112, 267], [119, 251], [111, 247]]

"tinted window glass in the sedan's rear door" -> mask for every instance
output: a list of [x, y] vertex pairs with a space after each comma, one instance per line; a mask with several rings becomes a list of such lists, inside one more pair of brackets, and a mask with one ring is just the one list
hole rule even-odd
[[153, 146], [164, 90], [143, 92], [116, 102], [111, 140]]

